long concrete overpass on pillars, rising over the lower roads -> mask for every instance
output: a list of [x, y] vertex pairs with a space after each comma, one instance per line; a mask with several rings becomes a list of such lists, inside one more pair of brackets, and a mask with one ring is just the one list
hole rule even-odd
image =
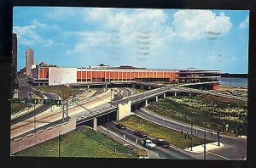
[[[147, 83], [140, 82], [140, 84], [143, 86], [144, 85], [148, 86], [148, 82]], [[154, 87], [154, 84], [152, 84], [151, 86]], [[113, 114], [114, 115], [114, 116], [112, 115], [113, 120], [121, 120], [125, 116], [131, 115], [131, 111], [134, 111], [140, 107], [147, 107], [149, 101], [158, 101], [159, 98], [166, 98], [166, 95], [177, 96], [178, 94], [186, 94], [186, 95], [192, 96], [195, 94], [208, 94], [213, 96], [221, 96], [224, 98], [233, 98], [236, 100], [247, 102], [247, 98], [230, 96], [223, 93], [198, 90], [198, 89], [193, 89], [188, 87], [179, 87], [179, 86], [178, 87], [173, 87], [173, 86], [160, 87], [160, 85], [157, 85], [157, 84], [155, 85], [155, 87], [158, 87], [158, 88], [153, 90], [148, 90], [147, 92], [141, 92], [135, 95], [131, 95], [126, 98], [119, 99], [117, 101], [113, 101], [112, 104], [109, 104], [109, 103], [102, 104], [96, 108], [93, 108], [90, 110], [84, 110], [79, 114], [71, 115], [69, 117], [71, 119], [75, 119], [77, 125], [90, 121], [91, 126], [96, 129], [97, 119], [99, 119], [100, 117], [104, 117], [104, 116], [106, 117]], [[61, 122], [61, 120], [58, 120], [56, 122]], [[52, 123], [45, 125], [44, 129], [47, 128], [47, 126], [52, 126]], [[42, 128], [38, 127], [37, 129], [40, 130]], [[37, 132], [37, 130], [32, 132]], [[26, 134], [27, 133], [22, 134], [20, 136], [21, 137], [26, 136]], [[13, 139], [15, 138], [17, 137], [14, 137]]]

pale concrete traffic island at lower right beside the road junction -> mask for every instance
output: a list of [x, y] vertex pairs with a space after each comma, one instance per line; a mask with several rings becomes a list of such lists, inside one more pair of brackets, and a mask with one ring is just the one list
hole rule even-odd
[[[218, 146], [218, 142], [207, 143], [206, 150], [211, 151], [211, 150], [218, 149], [218, 148], [224, 148], [224, 143], [219, 143], [219, 146]], [[185, 148], [184, 150], [191, 152], [191, 153], [203, 153], [204, 152], [204, 144], [193, 147], [192, 151], [191, 151], [191, 148]]]

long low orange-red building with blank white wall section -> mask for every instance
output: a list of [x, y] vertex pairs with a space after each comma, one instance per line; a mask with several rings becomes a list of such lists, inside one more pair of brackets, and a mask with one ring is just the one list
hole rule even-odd
[[[109, 67], [100, 64], [87, 68], [60, 68], [45, 63], [33, 68], [31, 81], [36, 86], [54, 86], [79, 82], [170, 81], [195, 83], [218, 81], [219, 70], [150, 70], [133, 66]], [[215, 85], [215, 87], [218, 87]]]

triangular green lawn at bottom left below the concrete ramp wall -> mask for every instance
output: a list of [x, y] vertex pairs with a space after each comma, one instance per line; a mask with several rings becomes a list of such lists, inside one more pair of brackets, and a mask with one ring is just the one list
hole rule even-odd
[[[15, 155], [58, 157], [58, 138], [39, 143]], [[61, 157], [137, 158], [137, 154], [101, 133], [83, 126], [81, 129], [61, 135]]]

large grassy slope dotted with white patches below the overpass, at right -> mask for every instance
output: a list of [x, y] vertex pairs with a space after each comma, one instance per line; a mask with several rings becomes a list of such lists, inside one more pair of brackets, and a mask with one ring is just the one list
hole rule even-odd
[[[167, 97], [153, 102], [148, 109], [154, 112], [197, 126], [218, 130], [220, 121], [221, 132], [235, 135], [236, 129], [242, 126], [241, 134], [247, 134], [247, 103], [230, 98], [201, 95], [195, 97]], [[219, 120], [220, 118], [220, 120]], [[229, 125], [225, 130], [226, 124]]]

